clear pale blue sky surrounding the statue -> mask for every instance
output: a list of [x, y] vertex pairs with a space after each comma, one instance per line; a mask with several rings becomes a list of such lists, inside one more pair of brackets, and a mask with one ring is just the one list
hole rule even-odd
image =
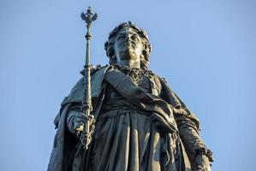
[[85, 62], [80, 12], [87, 6], [99, 15], [92, 27], [94, 65], [108, 62], [109, 32], [134, 21], [151, 40], [152, 71], [199, 116], [213, 170], [255, 169], [255, 1], [3, 0], [1, 170], [46, 170], [53, 119]]

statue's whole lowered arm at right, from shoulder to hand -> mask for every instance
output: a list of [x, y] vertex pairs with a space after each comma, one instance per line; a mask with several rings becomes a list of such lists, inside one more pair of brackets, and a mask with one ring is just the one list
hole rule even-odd
[[[167, 85], [166, 80], [162, 80], [161, 97], [173, 108], [173, 114], [179, 130], [182, 144], [188, 154], [189, 160], [193, 167], [206, 162], [205, 168], [210, 168], [209, 161], [212, 162], [211, 150], [208, 150], [205, 142], [199, 136], [199, 119], [194, 115], [176, 95], [174, 91]], [[208, 169], [208, 170], [209, 170]], [[205, 169], [207, 170], [207, 169]]]

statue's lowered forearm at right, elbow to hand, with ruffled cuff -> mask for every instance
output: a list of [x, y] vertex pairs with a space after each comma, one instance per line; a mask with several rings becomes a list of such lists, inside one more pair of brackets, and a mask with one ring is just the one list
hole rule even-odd
[[[178, 98], [180, 100], [180, 98]], [[181, 102], [180, 106], [173, 109], [176, 124], [179, 130], [182, 143], [188, 154], [193, 169], [204, 168], [211, 170], [211, 150], [207, 149], [205, 142], [199, 136], [199, 120]]]

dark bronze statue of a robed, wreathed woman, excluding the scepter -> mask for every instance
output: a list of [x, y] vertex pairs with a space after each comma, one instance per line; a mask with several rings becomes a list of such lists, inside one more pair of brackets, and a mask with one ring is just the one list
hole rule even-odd
[[[211, 151], [199, 137], [198, 118], [148, 69], [146, 32], [122, 23], [105, 50], [109, 65], [91, 69], [94, 119], [81, 109], [82, 78], [55, 119], [48, 171], [210, 171]], [[80, 141], [86, 123], [95, 127], [87, 150]]]

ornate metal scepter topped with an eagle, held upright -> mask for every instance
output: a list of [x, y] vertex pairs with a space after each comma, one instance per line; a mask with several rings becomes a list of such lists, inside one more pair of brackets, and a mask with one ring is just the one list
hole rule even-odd
[[92, 13], [91, 7], [88, 7], [86, 14], [81, 13], [80, 17], [83, 21], [86, 21], [86, 64], [84, 66], [84, 97], [82, 101], [81, 110], [83, 114], [85, 114], [89, 120], [86, 121], [84, 127], [82, 136], [80, 137], [81, 143], [84, 145], [85, 149], [88, 149], [88, 145], [92, 141], [92, 133], [93, 128], [90, 127], [90, 123], [93, 121], [93, 116], [91, 115], [92, 112], [92, 97], [91, 97], [91, 64], [90, 64], [90, 40], [92, 38], [91, 34], [91, 27], [92, 27], [92, 21], [95, 21], [97, 19], [97, 14]]

